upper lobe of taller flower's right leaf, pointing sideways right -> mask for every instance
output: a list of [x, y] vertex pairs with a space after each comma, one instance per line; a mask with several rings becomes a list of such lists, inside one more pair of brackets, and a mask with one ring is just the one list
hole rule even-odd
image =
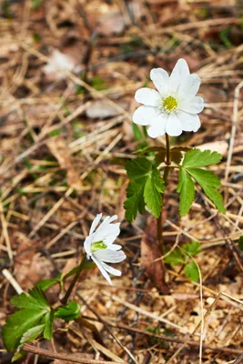
[[211, 150], [201, 151], [200, 149], [191, 149], [184, 157], [182, 167], [198, 168], [215, 165], [220, 162], [222, 156], [218, 152]]

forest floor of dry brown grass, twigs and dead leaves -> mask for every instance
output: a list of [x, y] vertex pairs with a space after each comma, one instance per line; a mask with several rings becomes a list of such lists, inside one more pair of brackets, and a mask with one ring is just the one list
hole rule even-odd
[[[104, 346], [75, 323], [38, 345], [124, 363], [243, 362], [240, 0], [3, 0], [1, 6], [0, 327], [14, 311], [17, 288], [26, 291], [76, 266], [96, 214], [117, 214], [118, 242], [127, 254], [122, 277], [109, 286], [97, 268], [86, 270], [75, 295]], [[171, 173], [165, 245], [197, 241], [202, 280], [167, 265], [171, 292], [162, 295], [141, 265], [149, 213], [132, 224], [125, 219], [124, 166], [138, 147], [165, 142], [132, 125], [134, 94], [152, 86], [151, 68], [170, 72], [181, 57], [201, 77], [206, 107], [198, 132], [172, 144], [207, 144], [223, 155], [211, 170], [222, 181], [227, 213], [218, 213], [198, 188], [190, 212], [179, 219], [177, 174]], [[57, 293], [50, 289], [49, 300]], [[9, 363], [1, 339], [0, 349], [1, 363]], [[25, 362], [64, 361], [28, 354]]]

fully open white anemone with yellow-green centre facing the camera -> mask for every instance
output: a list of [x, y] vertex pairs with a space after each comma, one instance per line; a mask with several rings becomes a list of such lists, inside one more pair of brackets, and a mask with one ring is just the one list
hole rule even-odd
[[179, 136], [182, 131], [196, 132], [200, 127], [197, 116], [204, 108], [202, 97], [196, 96], [200, 78], [190, 75], [185, 59], [179, 59], [170, 76], [163, 68], [154, 68], [150, 78], [157, 88], [140, 88], [135, 99], [140, 104], [133, 115], [133, 122], [149, 126], [148, 136]]

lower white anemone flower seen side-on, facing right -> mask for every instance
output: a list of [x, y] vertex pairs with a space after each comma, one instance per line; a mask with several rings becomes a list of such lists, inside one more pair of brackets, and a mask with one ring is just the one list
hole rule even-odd
[[122, 248], [120, 245], [113, 244], [120, 233], [120, 223], [111, 224], [117, 216], [106, 217], [97, 227], [101, 217], [102, 214], [96, 215], [84, 245], [87, 258], [91, 258], [96, 263], [102, 275], [112, 285], [108, 273], [121, 276], [121, 271], [109, 267], [106, 263], [120, 263], [127, 257], [123, 251], [120, 251]]

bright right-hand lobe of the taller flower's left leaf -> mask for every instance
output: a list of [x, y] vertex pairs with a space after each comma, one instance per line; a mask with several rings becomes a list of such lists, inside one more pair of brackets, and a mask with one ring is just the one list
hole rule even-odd
[[153, 168], [150, 176], [147, 178], [144, 189], [144, 198], [147, 208], [155, 217], [159, 217], [162, 196], [161, 194], [165, 191], [164, 180], [160, 177], [160, 173], [157, 168]]

